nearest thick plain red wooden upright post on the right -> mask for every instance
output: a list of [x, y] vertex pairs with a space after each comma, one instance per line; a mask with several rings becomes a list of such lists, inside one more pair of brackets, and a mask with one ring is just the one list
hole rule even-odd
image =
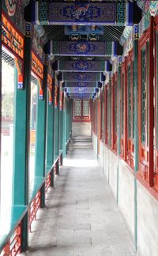
[[154, 56], [153, 56], [153, 21], [150, 18], [149, 31], [149, 186], [153, 186], [153, 128], [154, 128], [154, 107], [153, 107], [153, 77], [154, 77]]

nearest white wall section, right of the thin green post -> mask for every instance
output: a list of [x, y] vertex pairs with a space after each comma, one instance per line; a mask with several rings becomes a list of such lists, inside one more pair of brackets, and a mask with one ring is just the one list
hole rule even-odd
[[137, 245], [142, 256], [158, 255], [158, 202], [137, 183]]

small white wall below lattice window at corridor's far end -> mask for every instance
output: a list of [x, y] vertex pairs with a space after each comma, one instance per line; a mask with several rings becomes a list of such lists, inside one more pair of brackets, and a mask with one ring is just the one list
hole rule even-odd
[[73, 122], [73, 137], [75, 136], [91, 136], [91, 122]]

